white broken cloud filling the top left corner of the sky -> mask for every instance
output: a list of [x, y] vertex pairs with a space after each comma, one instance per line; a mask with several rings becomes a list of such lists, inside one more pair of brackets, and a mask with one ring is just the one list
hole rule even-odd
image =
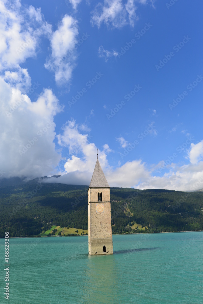
[[19, 68], [26, 58], [36, 56], [40, 36], [48, 36], [51, 26], [40, 9], [22, 8], [19, 1], [0, 1], [0, 70]]

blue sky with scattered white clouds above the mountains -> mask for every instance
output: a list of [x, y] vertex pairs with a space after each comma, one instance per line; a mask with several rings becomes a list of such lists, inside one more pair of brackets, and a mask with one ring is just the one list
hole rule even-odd
[[0, 5], [3, 177], [203, 188], [200, 1]]

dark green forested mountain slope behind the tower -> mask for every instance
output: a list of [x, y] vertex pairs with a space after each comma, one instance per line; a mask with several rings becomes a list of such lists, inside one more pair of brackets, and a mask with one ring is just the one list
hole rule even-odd
[[[36, 236], [51, 225], [88, 229], [88, 186], [0, 182], [0, 237]], [[111, 188], [112, 233], [203, 230], [203, 192]], [[135, 222], [146, 230], [134, 230]], [[133, 229], [133, 230], [132, 230]]]

